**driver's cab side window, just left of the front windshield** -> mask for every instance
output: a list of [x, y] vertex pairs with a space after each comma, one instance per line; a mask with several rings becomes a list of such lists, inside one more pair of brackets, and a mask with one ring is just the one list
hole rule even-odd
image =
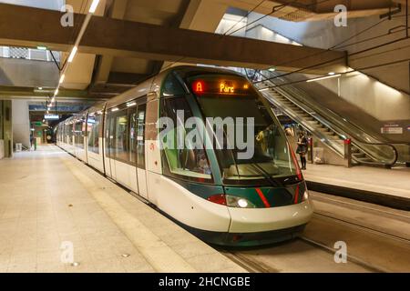
[[[161, 99], [161, 116], [169, 117], [174, 124], [174, 127], [169, 131], [168, 135], [161, 141], [163, 143], [163, 157], [166, 157], [167, 162], [164, 162], [165, 173], [171, 176], [185, 176], [193, 180], [211, 181], [210, 163], [206, 156], [205, 150], [202, 148], [195, 148], [184, 143], [184, 148], [179, 149], [177, 146], [177, 133], [179, 130], [183, 133], [183, 138], [190, 133], [190, 128], [185, 128], [183, 125], [177, 123], [177, 111], [184, 112], [183, 122], [192, 116], [190, 106], [188, 105], [185, 96], [177, 96]], [[179, 128], [178, 130], [178, 127]], [[171, 138], [169, 141], [168, 138]], [[203, 142], [199, 141], [200, 143]], [[193, 147], [193, 148], [192, 148]]]

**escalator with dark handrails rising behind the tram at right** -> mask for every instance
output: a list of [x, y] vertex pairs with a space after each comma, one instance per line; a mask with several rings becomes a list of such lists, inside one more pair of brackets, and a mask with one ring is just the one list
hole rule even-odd
[[[273, 82], [270, 79], [274, 79]], [[380, 142], [360, 126], [349, 122], [343, 116], [313, 101], [313, 98], [293, 85], [278, 86], [278, 82], [288, 84], [277, 72], [257, 71], [250, 78], [261, 94], [290, 116], [313, 136], [323, 142], [338, 156], [344, 156], [344, 141], [352, 140], [352, 159], [355, 165], [383, 166], [390, 168], [400, 160], [397, 145]], [[409, 145], [400, 145], [408, 148]]]

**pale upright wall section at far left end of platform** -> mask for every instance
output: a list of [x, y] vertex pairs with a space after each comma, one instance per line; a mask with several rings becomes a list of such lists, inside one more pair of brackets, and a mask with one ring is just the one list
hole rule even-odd
[[30, 116], [26, 100], [13, 100], [13, 141], [30, 148]]

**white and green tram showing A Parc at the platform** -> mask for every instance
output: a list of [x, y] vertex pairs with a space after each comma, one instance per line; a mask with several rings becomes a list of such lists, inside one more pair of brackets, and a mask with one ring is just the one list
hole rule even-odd
[[[202, 122], [191, 125], [191, 117]], [[232, 128], [233, 135], [242, 131], [241, 142]], [[194, 130], [202, 134], [192, 146], [186, 137]], [[313, 215], [270, 105], [231, 71], [169, 68], [59, 124], [57, 146], [212, 244], [290, 239]]]

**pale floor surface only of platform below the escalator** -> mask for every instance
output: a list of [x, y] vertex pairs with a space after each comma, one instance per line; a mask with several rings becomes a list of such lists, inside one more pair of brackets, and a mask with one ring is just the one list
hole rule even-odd
[[384, 169], [370, 166], [307, 165], [308, 181], [410, 198], [410, 168]]

